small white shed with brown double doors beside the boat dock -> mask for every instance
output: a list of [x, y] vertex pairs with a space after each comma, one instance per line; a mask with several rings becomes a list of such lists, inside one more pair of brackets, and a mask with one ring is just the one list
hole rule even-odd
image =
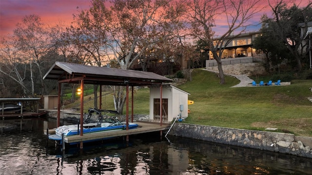
[[[188, 117], [188, 95], [185, 92], [172, 85], [162, 86], [162, 120], [163, 122], [172, 122], [174, 118], [181, 115], [182, 118]], [[150, 86], [150, 119], [160, 119], [159, 109], [159, 86]]]

